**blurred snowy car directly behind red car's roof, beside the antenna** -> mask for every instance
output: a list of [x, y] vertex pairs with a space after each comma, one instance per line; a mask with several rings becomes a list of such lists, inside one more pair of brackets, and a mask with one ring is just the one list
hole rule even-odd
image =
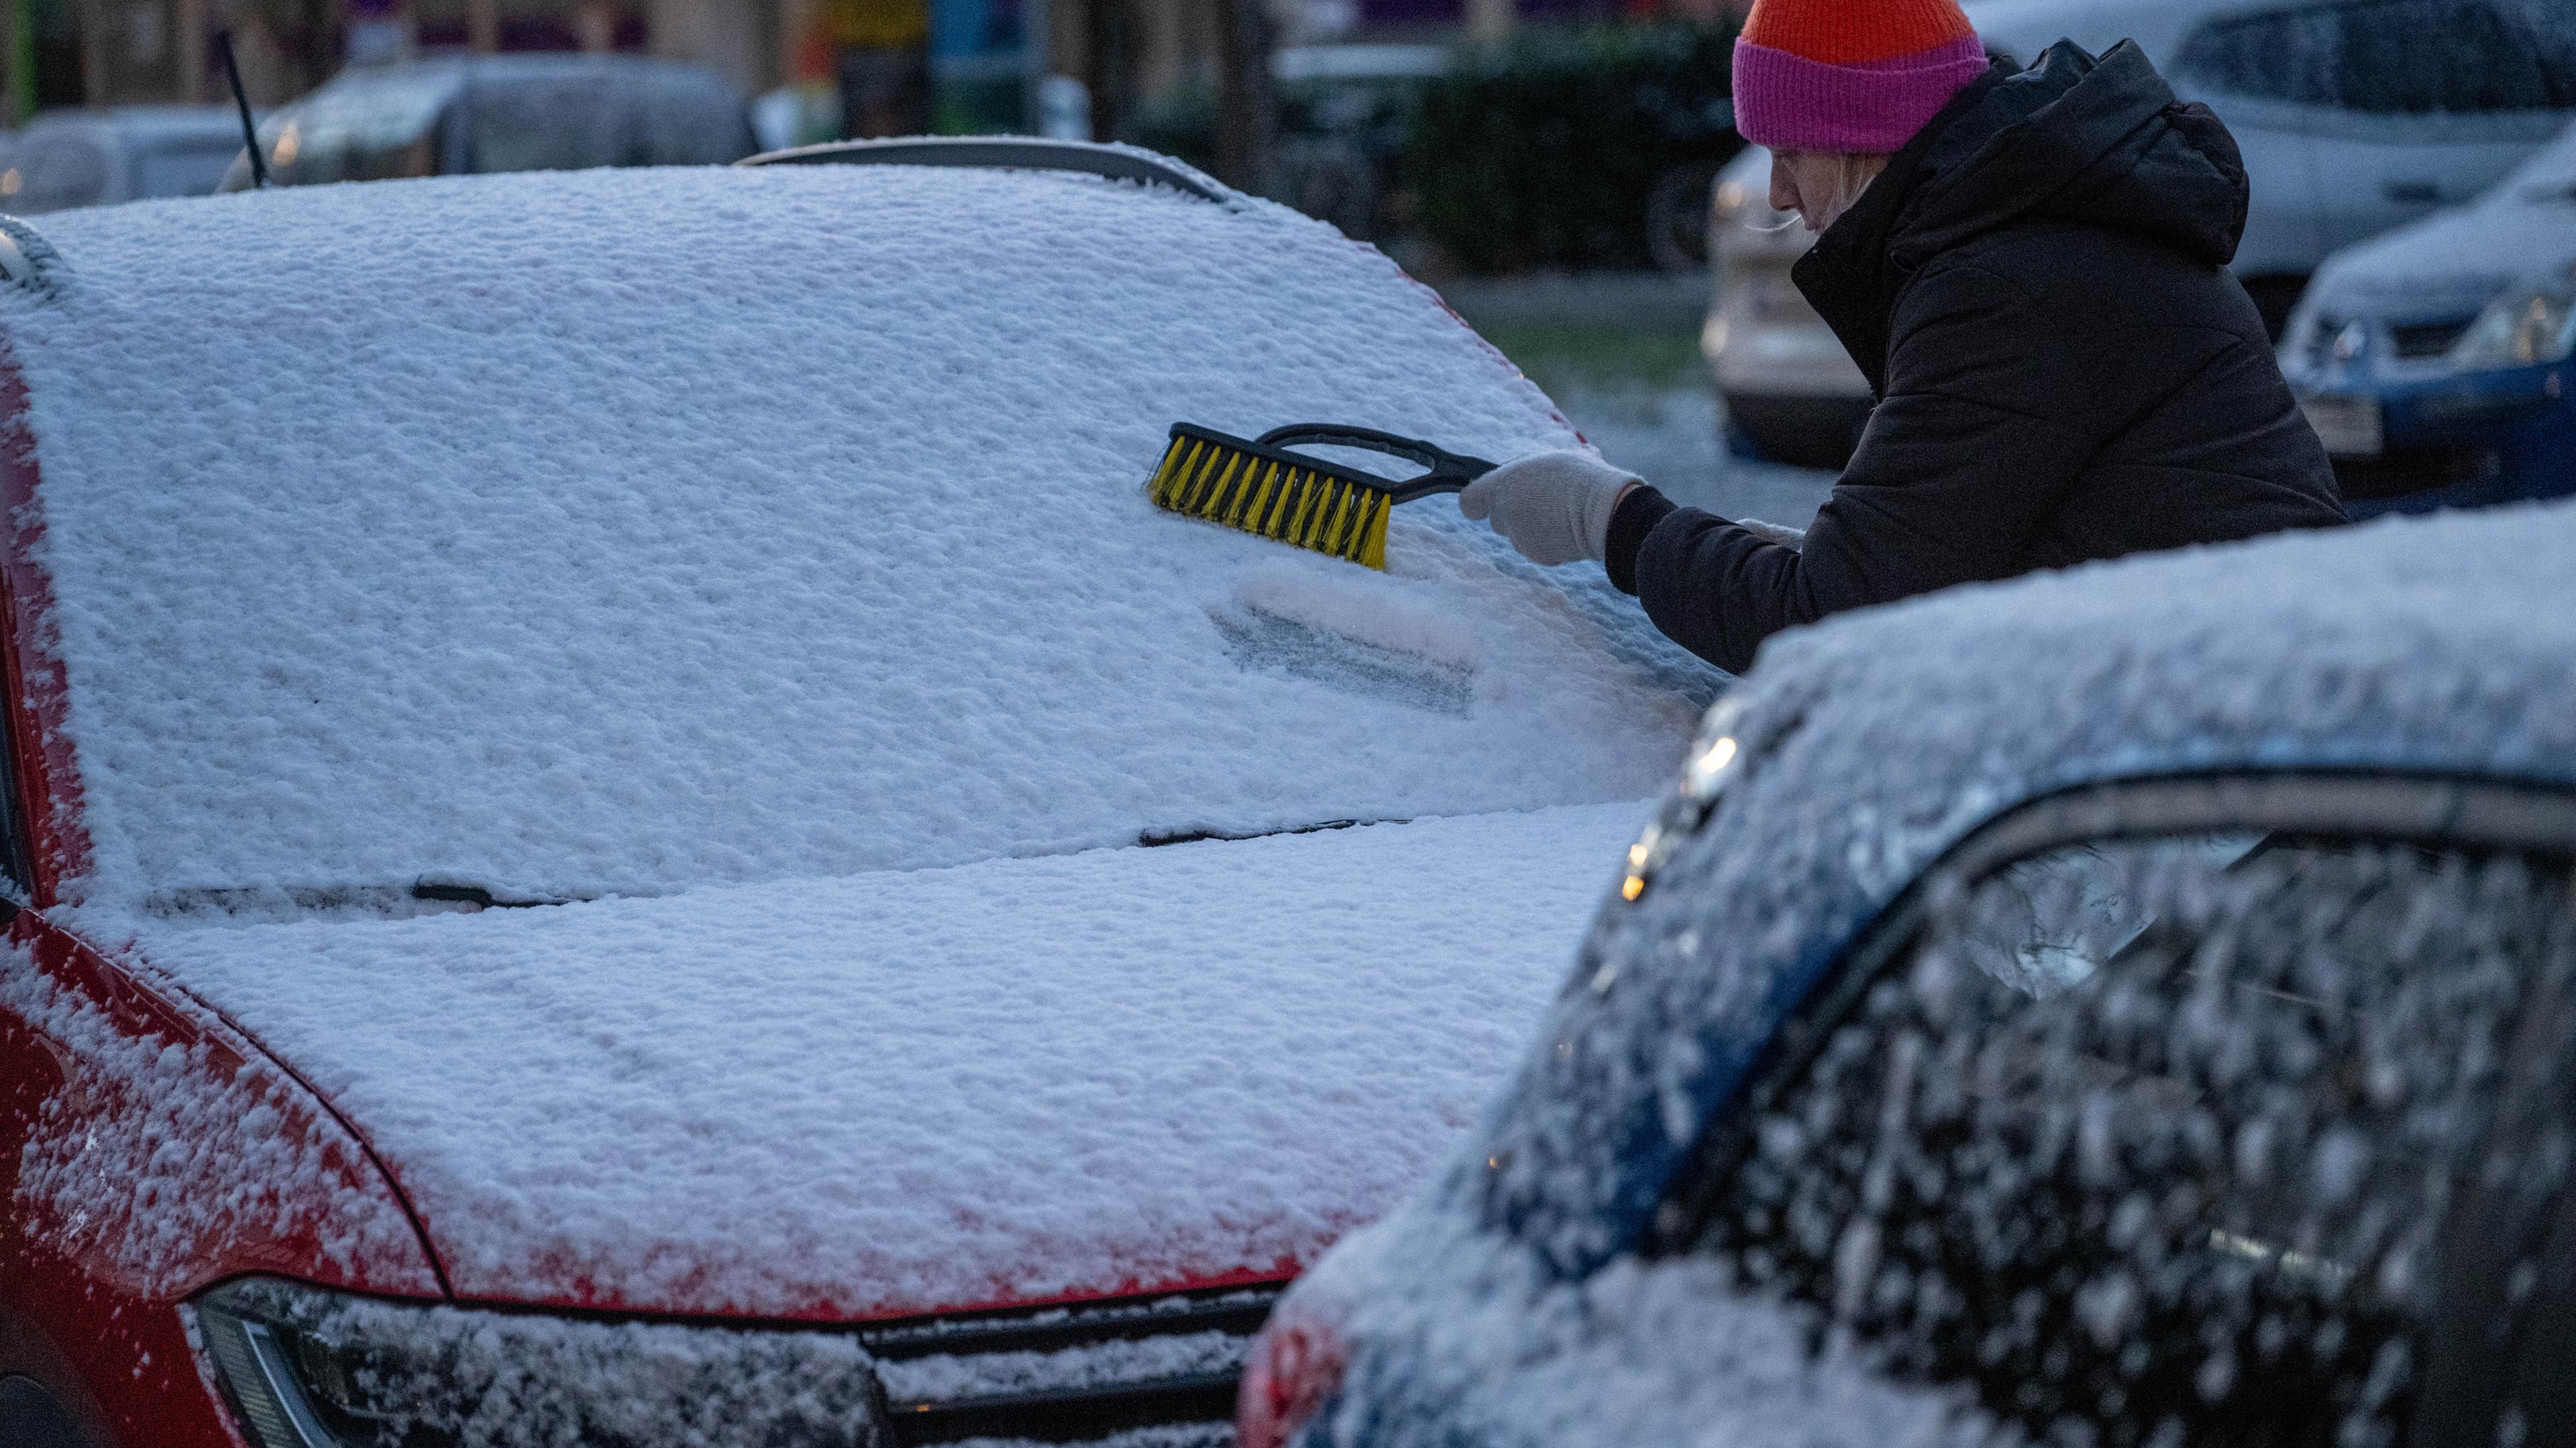
[[[500, 54], [350, 67], [260, 124], [278, 186], [724, 165], [752, 155], [750, 106], [698, 64], [623, 54]], [[224, 191], [250, 186], [250, 157]]]

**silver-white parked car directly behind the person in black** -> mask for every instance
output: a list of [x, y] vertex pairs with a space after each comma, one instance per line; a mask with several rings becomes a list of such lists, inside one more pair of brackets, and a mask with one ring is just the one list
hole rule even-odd
[[[2576, 116], [2566, 0], [1968, 0], [1986, 46], [2146, 49], [2236, 134], [2254, 183], [2236, 276], [2275, 335], [2326, 252], [2468, 201]], [[1870, 412], [1788, 268], [1811, 237], [1765, 196], [1767, 152], [1721, 178], [1710, 376], [1749, 451], [1842, 466]], [[1741, 296], [1739, 296], [1741, 291]]]

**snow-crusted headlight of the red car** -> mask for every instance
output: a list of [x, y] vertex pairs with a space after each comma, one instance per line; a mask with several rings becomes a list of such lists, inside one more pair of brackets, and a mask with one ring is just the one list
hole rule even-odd
[[252, 1448], [889, 1443], [853, 1335], [407, 1306], [268, 1278], [196, 1299], [191, 1327]]

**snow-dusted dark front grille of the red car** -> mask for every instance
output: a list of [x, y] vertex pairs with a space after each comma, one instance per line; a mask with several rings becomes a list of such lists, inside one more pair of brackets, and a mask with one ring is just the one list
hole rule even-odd
[[943, 1317], [863, 1332], [894, 1440], [1229, 1448], [1280, 1288]]

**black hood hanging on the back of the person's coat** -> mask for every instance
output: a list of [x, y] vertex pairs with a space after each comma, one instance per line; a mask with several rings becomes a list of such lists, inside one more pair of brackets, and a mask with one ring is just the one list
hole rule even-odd
[[2058, 41], [2030, 70], [1996, 62], [1960, 90], [1816, 240], [1795, 278], [1878, 389], [1896, 296], [1940, 252], [2056, 219], [2226, 265], [2246, 198], [2236, 137], [2208, 106], [2177, 100], [2146, 52], [2123, 41], [2097, 59]]

